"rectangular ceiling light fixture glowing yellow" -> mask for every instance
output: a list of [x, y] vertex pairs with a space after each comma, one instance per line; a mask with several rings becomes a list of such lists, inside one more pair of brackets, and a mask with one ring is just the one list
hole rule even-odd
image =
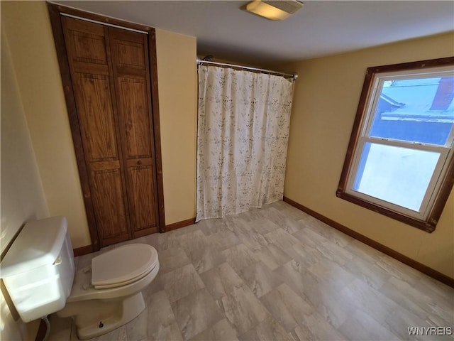
[[284, 20], [301, 9], [303, 3], [297, 0], [255, 0], [241, 9], [270, 20]]

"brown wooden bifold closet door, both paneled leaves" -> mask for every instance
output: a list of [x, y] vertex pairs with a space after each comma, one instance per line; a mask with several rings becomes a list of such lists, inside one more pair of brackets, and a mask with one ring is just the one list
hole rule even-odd
[[100, 246], [157, 232], [148, 37], [61, 23]]

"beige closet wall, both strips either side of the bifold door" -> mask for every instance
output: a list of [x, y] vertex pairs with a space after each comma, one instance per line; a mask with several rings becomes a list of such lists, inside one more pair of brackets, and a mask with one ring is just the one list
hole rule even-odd
[[[44, 1], [1, 1], [18, 88], [50, 215], [68, 218], [74, 248], [91, 244], [60, 70]], [[193, 37], [157, 30], [166, 223], [195, 216]]]

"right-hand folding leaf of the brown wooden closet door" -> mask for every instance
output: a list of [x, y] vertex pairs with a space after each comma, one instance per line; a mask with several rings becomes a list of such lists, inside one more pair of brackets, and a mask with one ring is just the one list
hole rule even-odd
[[131, 232], [157, 231], [157, 185], [145, 35], [109, 27]]

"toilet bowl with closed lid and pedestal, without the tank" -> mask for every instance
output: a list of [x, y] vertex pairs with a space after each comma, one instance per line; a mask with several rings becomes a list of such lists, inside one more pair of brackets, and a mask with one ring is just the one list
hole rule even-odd
[[92, 259], [74, 276], [60, 317], [72, 317], [81, 340], [128, 323], [145, 309], [142, 291], [159, 271], [157, 251], [148, 244], [127, 244]]

